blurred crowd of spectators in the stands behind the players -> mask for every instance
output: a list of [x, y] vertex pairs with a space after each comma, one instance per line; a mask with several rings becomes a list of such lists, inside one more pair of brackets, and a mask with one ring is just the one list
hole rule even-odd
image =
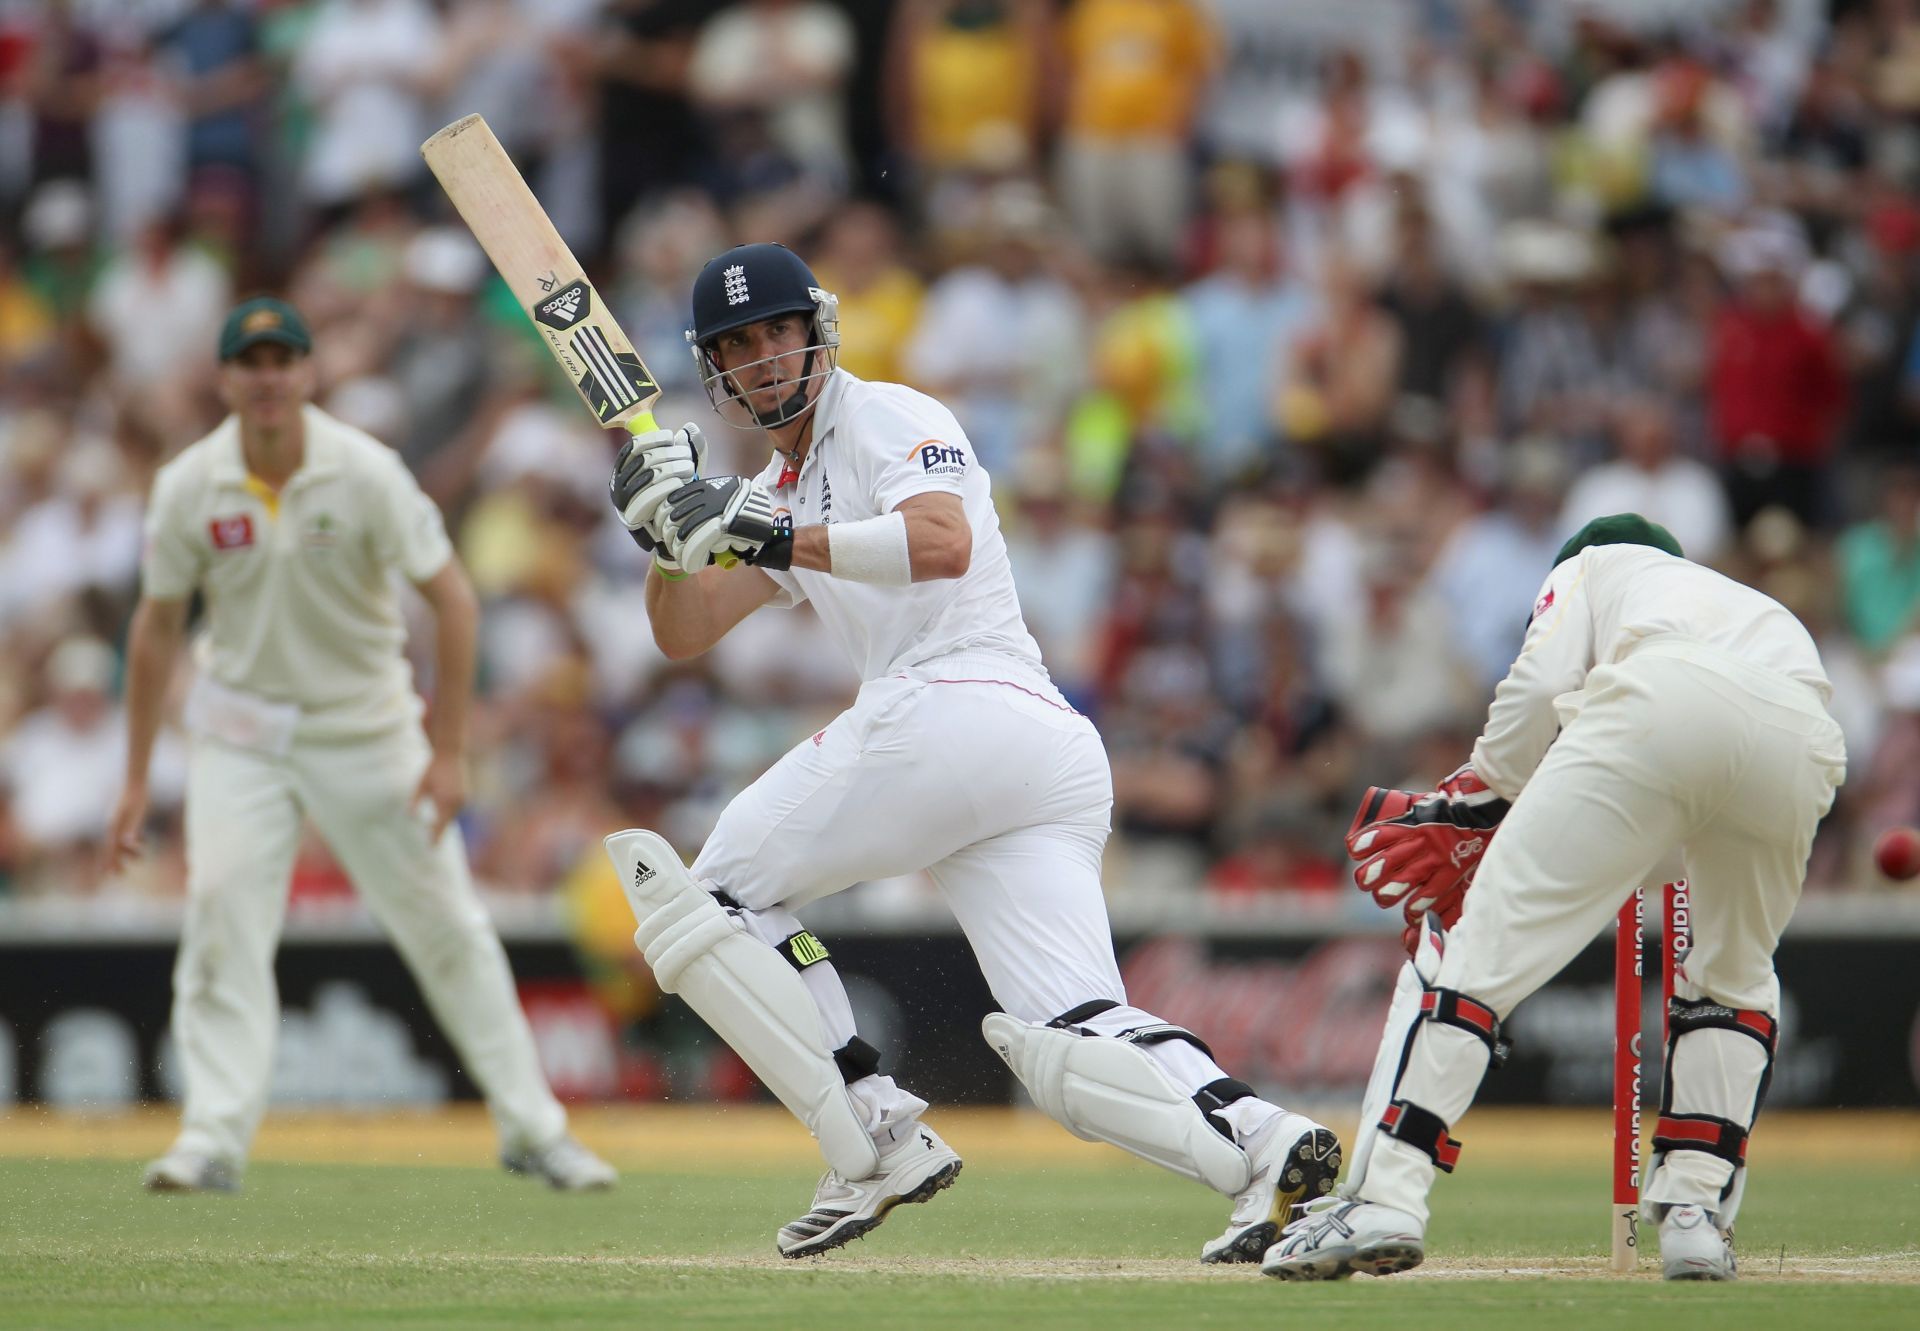
[[697, 845], [851, 697], [804, 609], [653, 649], [616, 440], [419, 159], [467, 111], [716, 465], [764, 461], [682, 340], [735, 240], [956, 411], [1112, 751], [1116, 891], [1331, 891], [1357, 791], [1467, 757], [1553, 551], [1626, 509], [1820, 640], [1814, 887], [1920, 822], [1916, 0], [4, 0], [0, 893], [180, 891], [173, 730], [100, 882], [119, 653], [257, 290], [482, 593], [488, 883]]

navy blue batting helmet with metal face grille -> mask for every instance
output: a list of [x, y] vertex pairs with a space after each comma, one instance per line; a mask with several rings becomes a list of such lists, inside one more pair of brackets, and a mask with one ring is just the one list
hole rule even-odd
[[[776, 411], [762, 415], [747, 405], [745, 392], [733, 378], [762, 361], [722, 371], [712, 350], [720, 334], [776, 315], [808, 315], [812, 338], [804, 348], [801, 373], [791, 378], [793, 394]], [[820, 386], [839, 363], [839, 298], [822, 290], [806, 261], [787, 246], [735, 246], [708, 259], [693, 278], [693, 325], [687, 328], [687, 344], [701, 369], [707, 399], [724, 421], [745, 428], [789, 424], [812, 409]], [[785, 355], [768, 359], [783, 361]]]

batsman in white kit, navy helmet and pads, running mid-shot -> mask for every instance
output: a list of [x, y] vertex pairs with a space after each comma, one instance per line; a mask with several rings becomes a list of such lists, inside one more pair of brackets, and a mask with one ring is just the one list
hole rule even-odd
[[1200, 1035], [1127, 1004], [1100, 889], [1106, 751], [1021, 622], [960, 424], [920, 392], [837, 369], [835, 300], [781, 246], [712, 259], [687, 338], [714, 407], [764, 432], [774, 459], [756, 478], [705, 476], [691, 426], [622, 449], [612, 497], [657, 561], [657, 641], [691, 657], [764, 605], [810, 601], [864, 680], [726, 809], [691, 870], [653, 832], [607, 841], [660, 987], [826, 1156], [780, 1250], [835, 1248], [960, 1172], [793, 914], [927, 870], [1004, 1008], [985, 1039], [1033, 1101], [1079, 1137], [1231, 1197], [1202, 1260], [1260, 1260], [1288, 1210], [1332, 1187], [1338, 1143], [1229, 1076]]

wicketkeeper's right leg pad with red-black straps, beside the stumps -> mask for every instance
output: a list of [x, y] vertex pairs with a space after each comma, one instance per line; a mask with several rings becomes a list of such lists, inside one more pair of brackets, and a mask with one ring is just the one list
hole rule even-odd
[[1766, 1099], [1780, 1028], [1770, 1012], [1688, 997], [1667, 1010], [1667, 1074], [1653, 1127], [1647, 1212], [1705, 1206], [1734, 1227], [1747, 1177], [1747, 1133]]

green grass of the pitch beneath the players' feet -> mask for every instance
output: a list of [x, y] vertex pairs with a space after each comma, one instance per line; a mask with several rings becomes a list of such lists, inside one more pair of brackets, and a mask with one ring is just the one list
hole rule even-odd
[[478, 1168], [255, 1164], [238, 1197], [150, 1197], [127, 1160], [0, 1158], [0, 1325], [1914, 1325], [1920, 1174], [1784, 1174], [1755, 1179], [1738, 1285], [1663, 1285], [1651, 1258], [1605, 1275], [1597, 1164], [1490, 1162], [1442, 1181], [1425, 1271], [1304, 1287], [1192, 1262], [1223, 1204], [1123, 1160], [970, 1166], [864, 1243], [781, 1262], [774, 1229], [812, 1189], [789, 1166], [559, 1197]]

